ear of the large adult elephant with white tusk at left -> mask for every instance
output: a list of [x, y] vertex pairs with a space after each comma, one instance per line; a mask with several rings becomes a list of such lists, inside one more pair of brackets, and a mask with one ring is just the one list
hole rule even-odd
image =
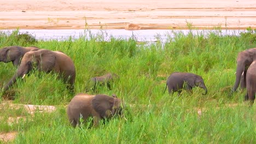
[[54, 55], [53, 51], [39, 50], [34, 52], [37, 53], [35, 58], [39, 70], [48, 72], [54, 68], [56, 56]]

